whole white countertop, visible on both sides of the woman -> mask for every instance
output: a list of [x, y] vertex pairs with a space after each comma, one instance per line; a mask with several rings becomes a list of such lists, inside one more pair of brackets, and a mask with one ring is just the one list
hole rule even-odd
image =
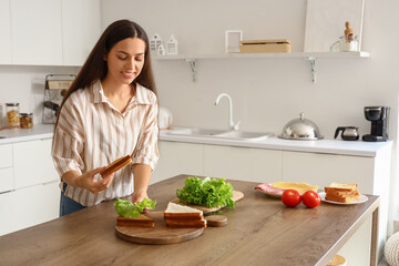
[[[53, 136], [53, 124], [34, 124], [32, 129], [8, 129], [0, 130], [0, 144], [51, 139]], [[390, 149], [392, 141], [388, 142], [362, 142], [342, 140], [318, 140], [318, 141], [291, 141], [270, 136], [258, 141], [241, 141], [217, 137], [201, 137], [186, 135], [171, 135], [168, 131], [162, 130], [161, 141], [198, 143], [224, 146], [255, 147], [267, 150], [328, 153], [351, 156], [375, 157], [383, 149]]]

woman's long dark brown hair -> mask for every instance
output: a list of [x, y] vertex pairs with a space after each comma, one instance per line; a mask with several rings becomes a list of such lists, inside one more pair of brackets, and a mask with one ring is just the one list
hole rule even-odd
[[104, 60], [104, 55], [108, 54], [117, 42], [127, 38], [139, 38], [145, 42], [144, 65], [141, 73], [132, 82], [132, 84], [140, 83], [141, 85], [153, 91], [155, 95], [157, 95], [151, 68], [151, 58], [149, 50], [150, 44], [147, 34], [141, 25], [133, 21], [117, 20], [110, 24], [102, 33], [93, 50], [90, 52], [82, 69], [79, 71], [75, 80], [72, 82], [70, 89], [64, 94], [57, 115], [55, 127], [60, 117], [61, 109], [66, 99], [72, 94], [72, 92], [88, 88], [95, 80], [104, 79], [108, 73], [108, 64]]

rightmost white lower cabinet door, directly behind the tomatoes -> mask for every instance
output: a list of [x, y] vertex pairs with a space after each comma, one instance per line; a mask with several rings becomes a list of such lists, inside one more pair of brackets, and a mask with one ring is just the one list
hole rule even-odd
[[321, 190], [331, 182], [357, 183], [359, 191], [372, 194], [374, 157], [283, 152], [283, 181], [307, 182]]

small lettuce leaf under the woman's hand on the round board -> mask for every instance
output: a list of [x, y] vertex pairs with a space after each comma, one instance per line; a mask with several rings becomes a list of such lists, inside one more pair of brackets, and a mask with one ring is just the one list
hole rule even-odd
[[123, 217], [135, 218], [139, 217], [140, 213], [143, 212], [145, 207], [154, 209], [156, 201], [152, 201], [150, 198], [144, 198], [142, 202], [139, 202], [135, 205], [130, 201], [117, 198], [117, 201], [114, 203], [114, 208], [116, 213]]

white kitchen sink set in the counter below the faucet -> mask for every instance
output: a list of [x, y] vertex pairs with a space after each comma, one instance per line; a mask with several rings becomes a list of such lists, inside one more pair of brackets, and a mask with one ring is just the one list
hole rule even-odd
[[255, 141], [266, 139], [274, 135], [273, 133], [255, 133], [245, 131], [226, 131], [226, 130], [208, 130], [208, 129], [182, 129], [167, 132], [170, 135], [196, 136], [196, 137], [215, 137]]

